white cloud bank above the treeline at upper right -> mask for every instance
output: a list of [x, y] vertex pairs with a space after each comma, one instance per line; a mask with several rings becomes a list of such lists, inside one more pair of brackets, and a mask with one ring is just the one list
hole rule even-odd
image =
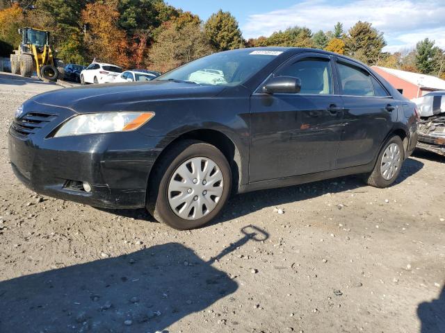
[[357, 21], [371, 22], [385, 33], [386, 51], [410, 48], [430, 38], [445, 48], [445, 1], [358, 0], [332, 4], [328, 0], [304, 0], [282, 10], [248, 17], [241, 27], [246, 38], [270, 35], [289, 26], [307, 26], [312, 31], [332, 30], [337, 22], [347, 30]]

